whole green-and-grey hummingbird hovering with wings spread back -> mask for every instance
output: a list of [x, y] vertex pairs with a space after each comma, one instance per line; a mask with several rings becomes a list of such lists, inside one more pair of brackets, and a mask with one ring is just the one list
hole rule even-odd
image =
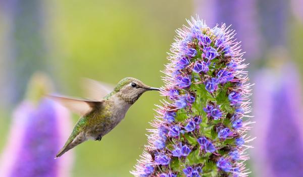
[[[81, 115], [74, 126], [72, 133], [56, 158], [87, 141], [100, 141], [125, 117], [126, 112], [138, 98], [146, 91], [160, 91], [150, 87], [140, 80], [126, 77], [118, 82], [109, 92], [108, 86], [98, 84], [97, 81], [88, 80], [88, 92], [94, 99], [77, 99], [61, 96], [49, 96], [59, 101], [71, 111]], [[108, 93], [105, 97], [101, 97]]]

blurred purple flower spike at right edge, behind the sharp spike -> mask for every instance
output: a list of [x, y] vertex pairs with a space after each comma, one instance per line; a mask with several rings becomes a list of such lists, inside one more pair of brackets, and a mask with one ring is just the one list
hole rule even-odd
[[281, 62], [281, 56], [272, 61], [276, 67], [260, 71], [255, 79], [257, 123], [252, 134], [258, 138], [251, 153], [256, 176], [303, 176], [300, 79], [295, 66]]

